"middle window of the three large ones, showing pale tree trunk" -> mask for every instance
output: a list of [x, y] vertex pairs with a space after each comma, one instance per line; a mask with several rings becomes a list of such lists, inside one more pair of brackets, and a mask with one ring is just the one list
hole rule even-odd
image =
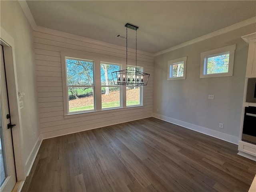
[[102, 109], [120, 107], [120, 86], [114, 85], [111, 72], [120, 70], [119, 64], [101, 62], [101, 102]]

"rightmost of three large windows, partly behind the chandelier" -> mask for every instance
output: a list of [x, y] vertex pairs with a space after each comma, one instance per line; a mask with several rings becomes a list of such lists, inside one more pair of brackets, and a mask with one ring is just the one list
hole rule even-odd
[[[128, 66], [128, 70], [136, 70], [134, 66]], [[138, 71], [142, 71], [142, 67], [137, 67]], [[129, 77], [130, 79], [136, 78]], [[141, 105], [142, 86], [126, 86], [126, 106]]]

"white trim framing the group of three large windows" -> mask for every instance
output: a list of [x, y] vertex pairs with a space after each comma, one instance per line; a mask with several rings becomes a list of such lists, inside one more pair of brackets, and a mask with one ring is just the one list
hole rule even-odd
[[[103, 108], [101, 103], [101, 81], [100, 79], [96, 79], [97, 76], [100, 76], [100, 64], [104, 63], [112, 63], [112, 64], [120, 64], [120, 70], [126, 68], [126, 62], [124, 59], [114, 59], [108, 57], [100, 57], [100, 56], [92, 56], [88, 54], [79, 54], [74, 52], [60, 52], [61, 55], [61, 64], [62, 64], [62, 94], [63, 94], [63, 107], [64, 107], [64, 118], [77, 118], [82, 116], [90, 116], [92, 114], [102, 114], [107, 112], [108, 110], [128, 110], [128, 108], [144, 108], [143, 101], [143, 90], [144, 86], [141, 86], [140, 92], [140, 105], [126, 106], [126, 88], [125, 86], [121, 86], [120, 92], [120, 107], [115, 108]], [[94, 110], [86, 110], [86, 111], [78, 111], [78, 112], [68, 112], [68, 96], [67, 96], [67, 74], [66, 74], [66, 57], [82, 59], [82, 60], [92, 60], [94, 61]], [[134, 66], [134, 62], [128, 61], [129, 66]], [[144, 70], [144, 64], [139, 63], [138, 66]], [[135, 67], [135, 66], [134, 66]], [[111, 111], [110, 111], [111, 112]]]

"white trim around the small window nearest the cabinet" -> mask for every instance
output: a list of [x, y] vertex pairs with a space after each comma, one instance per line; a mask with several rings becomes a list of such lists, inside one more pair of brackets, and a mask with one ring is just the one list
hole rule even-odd
[[[201, 53], [201, 64], [200, 64], [200, 78], [211, 78], [211, 77], [227, 77], [233, 76], [234, 68], [234, 56], [235, 56], [236, 44], [202, 52]], [[214, 55], [221, 55], [223, 53], [229, 52], [228, 61], [228, 72], [227, 73], [216, 73], [216, 74], [206, 74], [206, 58]]]

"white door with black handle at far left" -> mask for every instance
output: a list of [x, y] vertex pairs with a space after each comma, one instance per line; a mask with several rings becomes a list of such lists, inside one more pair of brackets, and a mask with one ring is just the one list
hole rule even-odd
[[3, 46], [1, 45], [0, 62], [0, 192], [11, 192], [16, 184], [14, 154], [12, 147], [12, 133], [8, 129], [9, 114], [6, 79], [4, 71]]

